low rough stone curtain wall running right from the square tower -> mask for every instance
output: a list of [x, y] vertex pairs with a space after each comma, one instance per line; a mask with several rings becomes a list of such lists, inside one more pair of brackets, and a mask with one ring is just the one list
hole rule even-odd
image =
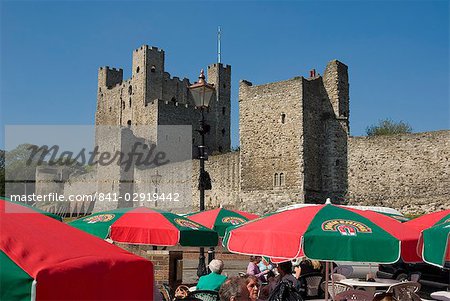
[[450, 131], [349, 139], [348, 200], [403, 213], [450, 207]]

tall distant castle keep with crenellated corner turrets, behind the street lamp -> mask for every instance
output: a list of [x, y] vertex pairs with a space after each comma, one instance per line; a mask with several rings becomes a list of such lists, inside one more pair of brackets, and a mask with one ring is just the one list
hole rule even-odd
[[[165, 72], [164, 60], [162, 49], [143, 45], [133, 50], [131, 78], [124, 80], [122, 69], [100, 68], [96, 112], [96, 125], [102, 126], [96, 133], [99, 152], [126, 151], [129, 141], [124, 138], [127, 132], [124, 128], [130, 131], [130, 137], [142, 139], [146, 144], [163, 146], [171, 139], [182, 141], [186, 138], [186, 143], [192, 141], [193, 150], [196, 150], [195, 146], [200, 142], [196, 131], [200, 111], [195, 108], [189, 93], [191, 84], [186, 78], [181, 80]], [[205, 137], [206, 145], [210, 154], [226, 152], [230, 149], [231, 67], [209, 66], [208, 81], [214, 84], [216, 93], [205, 112], [211, 127]], [[169, 137], [162, 130], [166, 125], [192, 126], [192, 135], [180, 137], [181, 134], [176, 133], [177, 137]], [[192, 157], [190, 148], [187, 155]], [[98, 178], [98, 191], [123, 195], [139, 189], [142, 192], [148, 190], [148, 187], [133, 184], [146, 178], [143, 172], [123, 170], [117, 165], [99, 166]]]

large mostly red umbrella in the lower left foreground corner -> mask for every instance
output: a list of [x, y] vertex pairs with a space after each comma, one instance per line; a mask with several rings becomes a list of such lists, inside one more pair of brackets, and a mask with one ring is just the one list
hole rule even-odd
[[0, 300], [152, 299], [150, 261], [33, 213], [0, 202]]

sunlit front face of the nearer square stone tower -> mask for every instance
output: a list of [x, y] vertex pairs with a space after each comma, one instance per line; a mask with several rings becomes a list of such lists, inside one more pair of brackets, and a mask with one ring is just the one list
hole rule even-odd
[[260, 86], [241, 81], [242, 191], [303, 190], [301, 100], [301, 78]]

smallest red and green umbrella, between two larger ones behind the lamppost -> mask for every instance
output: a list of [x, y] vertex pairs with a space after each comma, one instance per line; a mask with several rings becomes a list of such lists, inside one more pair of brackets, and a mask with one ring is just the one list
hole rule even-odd
[[258, 218], [259, 216], [239, 210], [217, 208], [193, 213], [186, 217], [191, 221], [202, 224], [209, 229], [213, 229], [220, 237], [223, 237], [225, 235], [225, 230], [228, 227], [240, 225], [246, 221]]

